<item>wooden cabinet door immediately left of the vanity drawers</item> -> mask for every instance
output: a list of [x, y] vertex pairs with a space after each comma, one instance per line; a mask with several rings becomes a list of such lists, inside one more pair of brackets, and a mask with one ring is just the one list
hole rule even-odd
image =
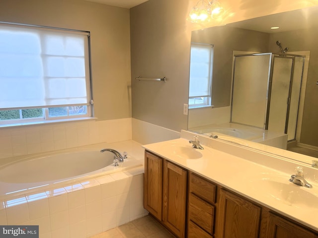
[[185, 236], [187, 171], [163, 162], [163, 224], [177, 237]]

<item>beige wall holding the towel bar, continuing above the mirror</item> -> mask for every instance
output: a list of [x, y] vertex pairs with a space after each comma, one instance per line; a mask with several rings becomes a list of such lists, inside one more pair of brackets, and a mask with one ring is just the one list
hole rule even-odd
[[[131, 8], [133, 118], [172, 130], [187, 129], [183, 104], [188, 102], [191, 29], [186, 21], [196, 0], [149, 0]], [[222, 0], [224, 23], [318, 5], [318, 0]], [[212, 26], [210, 24], [209, 26]], [[215, 24], [214, 24], [215, 25]], [[166, 83], [135, 77], [167, 77]]]

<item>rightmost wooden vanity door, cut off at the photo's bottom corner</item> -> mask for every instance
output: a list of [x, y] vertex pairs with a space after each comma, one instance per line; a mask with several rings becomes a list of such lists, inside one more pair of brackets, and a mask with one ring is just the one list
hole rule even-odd
[[269, 213], [267, 238], [318, 238], [314, 233]]

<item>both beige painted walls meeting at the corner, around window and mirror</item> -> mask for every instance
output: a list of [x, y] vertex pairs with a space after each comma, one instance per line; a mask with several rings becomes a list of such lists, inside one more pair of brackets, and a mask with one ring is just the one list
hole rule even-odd
[[[227, 23], [318, 4], [317, 0], [222, 2], [229, 13]], [[191, 30], [205, 27], [186, 21], [194, 3], [149, 0], [129, 10], [83, 0], [1, 0], [0, 21], [90, 31], [95, 116], [100, 120], [132, 116], [179, 131], [187, 128], [183, 104], [188, 101]], [[165, 76], [167, 82], [137, 81], [137, 76]]]

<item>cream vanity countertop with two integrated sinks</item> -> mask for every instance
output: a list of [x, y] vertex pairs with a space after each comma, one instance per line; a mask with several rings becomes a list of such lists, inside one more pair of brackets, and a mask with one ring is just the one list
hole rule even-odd
[[[216, 141], [215, 139], [210, 140]], [[293, 170], [290, 171], [290, 168], [295, 168], [298, 165], [292, 161], [270, 158], [270, 155], [264, 155], [264, 153], [257, 151], [246, 150], [245, 156], [244, 152], [241, 153], [243, 151], [241, 148], [238, 150], [237, 146], [231, 145], [231, 143], [221, 145], [222, 142], [218, 141], [215, 142], [219, 143], [216, 146], [213, 146], [213, 143], [212, 141], [212, 146], [209, 142], [201, 143], [204, 150], [200, 150], [192, 148], [189, 139], [179, 138], [143, 145], [143, 147], [189, 171], [318, 231], [318, 182], [311, 179], [315, 178], [313, 176], [306, 177], [306, 172], [311, 170], [310, 167], [303, 167], [305, 179], [313, 185], [313, 188], [306, 188], [289, 182], [290, 176], [294, 173]], [[221, 147], [222, 150], [220, 150]], [[255, 160], [251, 158], [252, 154]], [[311, 173], [316, 173], [318, 176], [318, 171], [314, 170]], [[275, 187], [276, 185], [277, 187]], [[287, 195], [282, 194], [282, 190]], [[291, 199], [288, 198], [289, 193], [293, 195]], [[305, 195], [303, 196], [303, 194]], [[283, 200], [281, 196], [283, 196]]]

